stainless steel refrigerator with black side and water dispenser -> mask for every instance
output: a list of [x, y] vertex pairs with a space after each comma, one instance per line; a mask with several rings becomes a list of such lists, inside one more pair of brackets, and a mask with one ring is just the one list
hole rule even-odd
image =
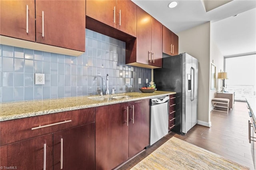
[[162, 68], [154, 69], [154, 82], [159, 91], [177, 93], [172, 131], [186, 134], [198, 122], [198, 59], [187, 53], [163, 54]]

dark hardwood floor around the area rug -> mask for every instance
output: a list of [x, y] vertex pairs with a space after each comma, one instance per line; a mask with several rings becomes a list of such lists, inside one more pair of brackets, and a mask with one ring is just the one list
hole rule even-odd
[[218, 111], [211, 112], [211, 128], [195, 125], [185, 135], [171, 132], [118, 169], [129, 170], [172, 136], [175, 136], [253, 170], [251, 145], [248, 140], [248, 120], [246, 102], [235, 102], [233, 109], [228, 114]]

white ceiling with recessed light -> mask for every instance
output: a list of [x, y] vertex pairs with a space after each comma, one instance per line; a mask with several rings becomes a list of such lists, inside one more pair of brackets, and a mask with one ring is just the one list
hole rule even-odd
[[256, 52], [256, 0], [176, 0], [175, 8], [174, 0], [132, 1], [176, 34], [211, 21], [224, 56]]

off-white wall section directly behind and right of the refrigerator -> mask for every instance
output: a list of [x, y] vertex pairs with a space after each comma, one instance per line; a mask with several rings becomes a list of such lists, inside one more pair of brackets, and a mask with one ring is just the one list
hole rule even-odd
[[178, 33], [179, 53], [196, 57], [198, 69], [198, 124], [211, 127], [210, 91], [210, 22]]

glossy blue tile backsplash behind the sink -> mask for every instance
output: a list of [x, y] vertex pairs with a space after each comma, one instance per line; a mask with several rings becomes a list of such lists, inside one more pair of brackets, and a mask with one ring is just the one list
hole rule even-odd
[[[0, 102], [96, 95], [106, 74], [115, 93], [139, 91], [151, 79], [151, 69], [125, 64], [125, 42], [88, 29], [78, 57], [0, 44], [0, 71]], [[45, 74], [44, 85], [34, 84], [34, 73]]]

